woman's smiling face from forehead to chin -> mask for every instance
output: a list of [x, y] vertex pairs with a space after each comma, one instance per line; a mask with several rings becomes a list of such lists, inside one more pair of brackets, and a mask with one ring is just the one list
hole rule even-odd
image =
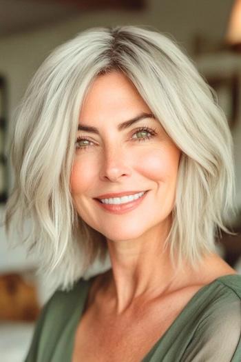
[[[79, 216], [113, 241], [164, 230], [174, 208], [180, 150], [125, 75], [112, 72], [95, 79], [79, 128], [70, 181]], [[146, 193], [121, 205], [105, 207], [97, 200], [110, 198], [103, 194], [138, 192]], [[120, 200], [112, 195], [108, 202], [113, 201]]]

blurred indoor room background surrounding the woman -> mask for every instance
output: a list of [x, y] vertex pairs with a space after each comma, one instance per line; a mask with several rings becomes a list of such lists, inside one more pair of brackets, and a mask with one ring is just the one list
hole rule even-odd
[[[34, 72], [76, 33], [124, 24], [172, 34], [216, 90], [233, 135], [241, 210], [241, 0], [0, 0], [1, 216], [14, 179], [6, 151], [12, 117]], [[222, 234], [217, 252], [241, 274], [241, 212], [231, 225], [237, 235]], [[1, 361], [23, 361], [39, 310], [52, 293], [35, 274], [36, 263], [23, 247], [10, 249], [0, 228]]]

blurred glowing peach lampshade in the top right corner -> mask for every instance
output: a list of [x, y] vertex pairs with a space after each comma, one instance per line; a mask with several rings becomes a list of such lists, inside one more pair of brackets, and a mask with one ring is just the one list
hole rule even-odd
[[233, 4], [226, 41], [232, 46], [241, 45], [241, 0], [235, 0]]

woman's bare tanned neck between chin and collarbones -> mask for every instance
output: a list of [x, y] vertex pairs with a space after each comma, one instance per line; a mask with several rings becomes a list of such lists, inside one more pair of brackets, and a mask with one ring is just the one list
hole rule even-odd
[[164, 239], [107, 243], [112, 269], [105, 273], [104, 288], [115, 314], [151, 301], [177, 284], [180, 275], [172, 268], [169, 248], [163, 248]]

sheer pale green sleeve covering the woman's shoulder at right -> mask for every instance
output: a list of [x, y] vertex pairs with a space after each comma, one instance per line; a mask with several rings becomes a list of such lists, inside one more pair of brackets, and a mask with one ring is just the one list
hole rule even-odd
[[181, 361], [241, 361], [241, 275], [220, 276], [211, 287], [205, 313]]

